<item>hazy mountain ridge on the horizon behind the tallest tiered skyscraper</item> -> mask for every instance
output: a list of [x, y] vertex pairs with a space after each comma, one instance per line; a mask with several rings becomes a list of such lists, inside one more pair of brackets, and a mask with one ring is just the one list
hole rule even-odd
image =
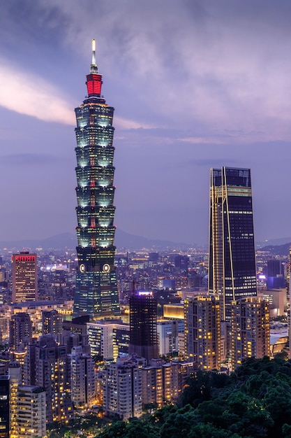
[[[190, 247], [186, 243], [175, 243], [172, 241], [147, 239], [142, 236], [129, 234], [121, 229], [116, 230], [115, 245], [117, 250], [139, 250], [147, 248], [151, 250], [181, 249], [185, 250]], [[0, 241], [0, 249], [8, 248], [9, 250], [65, 250], [74, 249], [77, 246], [77, 237], [72, 233], [57, 234], [57, 236], [48, 237], [47, 239], [25, 239], [21, 241]]]

